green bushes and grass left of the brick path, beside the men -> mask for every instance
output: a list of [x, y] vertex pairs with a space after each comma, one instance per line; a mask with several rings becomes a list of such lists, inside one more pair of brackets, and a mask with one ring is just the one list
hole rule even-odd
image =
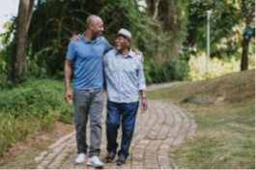
[[15, 142], [51, 129], [57, 120], [71, 123], [72, 107], [63, 94], [63, 83], [53, 79], [29, 79], [1, 90], [0, 156]]

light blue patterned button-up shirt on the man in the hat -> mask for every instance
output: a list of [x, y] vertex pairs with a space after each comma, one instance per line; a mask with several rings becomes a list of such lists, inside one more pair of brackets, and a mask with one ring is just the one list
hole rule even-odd
[[107, 99], [113, 102], [134, 102], [139, 91], [146, 90], [143, 64], [133, 51], [123, 57], [112, 49], [103, 56]]

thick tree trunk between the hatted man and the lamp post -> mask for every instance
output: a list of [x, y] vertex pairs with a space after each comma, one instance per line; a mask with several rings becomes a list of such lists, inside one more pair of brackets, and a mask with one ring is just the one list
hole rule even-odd
[[[163, 27], [163, 32], [170, 37], [165, 44], [166, 48], [158, 57], [177, 59], [179, 48], [185, 40], [186, 23], [185, 1], [177, 0], [146, 0], [148, 14], [159, 20]], [[167, 54], [164, 55], [164, 54]], [[161, 59], [162, 60], [162, 59]]]

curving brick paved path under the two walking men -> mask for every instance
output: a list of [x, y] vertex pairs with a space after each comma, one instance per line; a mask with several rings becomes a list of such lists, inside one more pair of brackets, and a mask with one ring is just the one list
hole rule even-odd
[[[154, 87], [153, 89], [156, 89]], [[149, 89], [150, 90], [150, 89]], [[170, 102], [149, 100], [146, 113], [137, 114], [136, 126], [127, 163], [116, 166], [105, 163], [104, 169], [177, 169], [173, 153], [185, 138], [191, 137], [196, 124], [188, 113]], [[105, 110], [102, 120], [100, 158], [106, 156]], [[87, 128], [89, 130], [89, 127]], [[89, 133], [88, 133], [89, 134]], [[85, 164], [75, 165], [76, 143], [74, 132], [62, 137], [35, 158], [38, 168], [94, 169]], [[120, 135], [119, 135], [120, 143]], [[89, 144], [89, 142], [88, 142]]]

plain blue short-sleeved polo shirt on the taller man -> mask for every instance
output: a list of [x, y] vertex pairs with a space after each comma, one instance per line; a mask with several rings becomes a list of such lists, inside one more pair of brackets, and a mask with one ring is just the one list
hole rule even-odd
[[73, 62], [73, 89], [102, 88], [102, 56], [111, 48], [112, 46], [103, 37], [98, 37], [93, 42], [87, 42], [81, 36], [77, 42], [69, 43], [66, 59]]

